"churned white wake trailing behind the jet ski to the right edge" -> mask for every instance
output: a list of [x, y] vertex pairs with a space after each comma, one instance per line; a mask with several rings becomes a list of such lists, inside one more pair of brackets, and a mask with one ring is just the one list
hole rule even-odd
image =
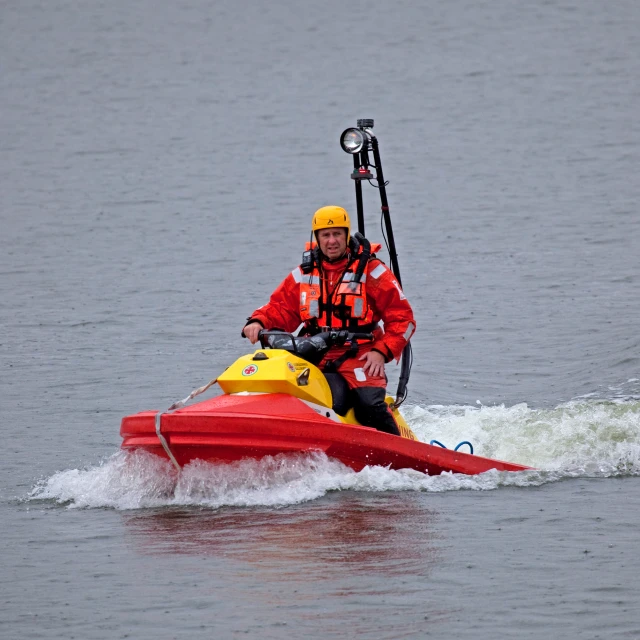
[[420, 440], [449, 448], [468, 440], [488, 458], [569, 475], [640, 473], [638, 401], [580, 400], [552, 409], [409, 406], [404, 416]]

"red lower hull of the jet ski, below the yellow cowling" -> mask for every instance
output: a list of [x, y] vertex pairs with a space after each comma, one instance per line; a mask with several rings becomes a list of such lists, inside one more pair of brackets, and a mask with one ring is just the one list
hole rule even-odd
[[[156, 434], [156, 411], [122, 420], [125, 449], [168, 458]], [[367, 465], [477, 474], [490, 469], [523, 471], [524, 465], [443, 449], [369, 427], [335, 422], [284, 394], [222, 395], [161, 414], [161, 433], [178, 465], [195, 459], [230, 462], [279, 453], [322, 451], [356, 471]]]

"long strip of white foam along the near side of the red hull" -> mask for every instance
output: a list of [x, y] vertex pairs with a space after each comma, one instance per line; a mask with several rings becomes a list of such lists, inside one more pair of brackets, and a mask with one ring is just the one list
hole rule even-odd
[[[509, 476], [521, 476], [519, 481]], [[195, 461], [180, 474], [152, 454], [118, 452], [102, 464], [71, 469], [40, 482], [29, 500], [52, 500], [71, 508], [139, 509], [198, 505], [282, 507], [319, 498], [330, 491], [456, 491], [495, 489], [503, 484], [540, 484], [537, 471], [477, 476], [365, 467], [356, 473], [323, 453], [278, 455], [230, 464]]]

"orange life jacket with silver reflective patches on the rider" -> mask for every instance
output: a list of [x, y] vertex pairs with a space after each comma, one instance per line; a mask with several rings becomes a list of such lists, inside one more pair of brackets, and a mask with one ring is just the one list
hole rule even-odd
[[367, 302], [367, 276], [375, 253], [381, 245], [350, 242], [351, 255], [333, 291], [327, 291], [328, 280], [322, 278], [321, 260], [315, 243], [307, 243], [314, 254], [312, 264], [300, 265], [300, 318], [315, 333], [325, 328], [349, 331], [373, 331], [373, 309]]

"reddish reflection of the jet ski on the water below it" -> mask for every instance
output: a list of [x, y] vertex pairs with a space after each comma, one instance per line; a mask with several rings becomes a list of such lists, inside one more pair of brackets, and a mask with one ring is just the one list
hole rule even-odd
[[323, 579], [327, 565], [356, 574], [426, 575], [438, 560], [437, 517], [421, 496], [352, 492], [282, 510], [123, 514], [141, 553], [222, 556], [256, 565], [270, 579], [289, 579], [303, 566], [307, 577]]

